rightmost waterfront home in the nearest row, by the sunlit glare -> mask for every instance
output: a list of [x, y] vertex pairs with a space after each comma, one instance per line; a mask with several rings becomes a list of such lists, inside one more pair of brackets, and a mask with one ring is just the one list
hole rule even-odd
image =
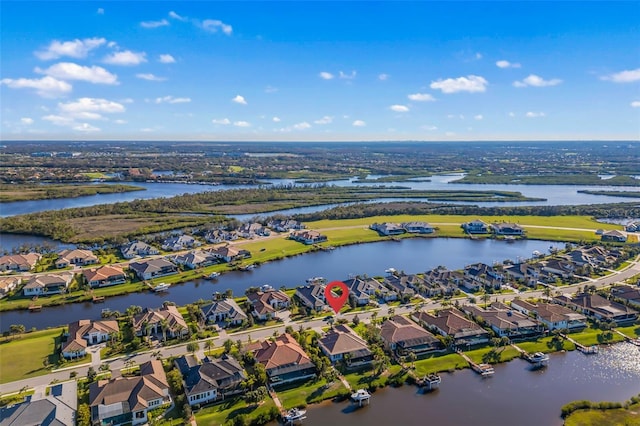
[[582, 312], [588, 317], [600, 321], [612, 321], [616, 325], [632, 324], [638, 314], [622, 303], [607, 300], [599, 294], [580, 293], [576, 296], [561, 295], [554, 297], [554, 302]]

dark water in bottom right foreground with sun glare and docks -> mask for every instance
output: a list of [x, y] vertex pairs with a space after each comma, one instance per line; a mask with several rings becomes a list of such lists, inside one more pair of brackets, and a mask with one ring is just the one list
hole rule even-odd
[[601, 347], [598, 355], [552, 354], [543, 370], [531, 371], [515, 359], [495, 371], [486, 379], [468, 369], [445, 373], [432, 393], [387, 387], [361, 408], [350, 402], [312, 405], [303, 424], [560, 426], [560, 409], [571, 401], [625, 401], [640, 393], [640, 352], [629, 343]]

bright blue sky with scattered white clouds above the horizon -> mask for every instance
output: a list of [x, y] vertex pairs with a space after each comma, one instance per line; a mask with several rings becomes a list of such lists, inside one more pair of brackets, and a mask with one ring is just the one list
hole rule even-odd
[[2, 1], [3, 139], [640, 138], [640, 2]]

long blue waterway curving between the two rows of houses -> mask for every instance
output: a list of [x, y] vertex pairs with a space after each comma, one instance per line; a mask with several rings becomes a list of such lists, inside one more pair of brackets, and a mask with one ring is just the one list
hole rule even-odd
[[293, 288], [317, 276], [328, 280], [343, 280], [364, 274], [383, 276], [384, 270], [391, 267], [406, 273], [424, 272], [438, 265], [462, 269], [476, 262], [493, 264], [506, 259], [517, 261], [519, 258], [530, 258], [533, 251], [545, 253], [551, 247], [563, 248], [564, 244], [537, 240], [507, 243], [462, 238], [414, 238], [399, 242], [350, 245], [265, 263], [252, 271], [227, 272], [214, 281], [188, 281], [173, 285], [164, 293], [131, 293], [110, 297], [105, 303], [73, 303], [45, 307], [41, 312], [2, 312], [0, 327], [6, 330], [11, 324], [23, 324], [27, 329], [40, 329], [79, 319], [98, 319], [105, 308], [124, 312], [131, 305], [155, 308], [164, 301], [185, 305], [198, 299], [210, 299], [216, 291], [231, 289], [234, 295], [240, 296], [252, 286], [269, 284], [275, 288]]

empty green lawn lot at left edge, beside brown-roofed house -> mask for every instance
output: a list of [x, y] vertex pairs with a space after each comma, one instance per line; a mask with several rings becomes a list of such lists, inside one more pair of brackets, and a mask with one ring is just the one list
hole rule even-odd
[[54, 349], [61, 332], [52, 328], [0, 341], [0, 383], [49, 373], [49, 366], [58, 362]]

